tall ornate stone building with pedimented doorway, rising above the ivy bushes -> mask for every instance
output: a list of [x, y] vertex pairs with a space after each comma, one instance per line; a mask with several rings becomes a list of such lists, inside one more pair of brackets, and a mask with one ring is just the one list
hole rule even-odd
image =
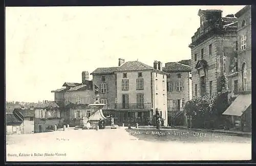
[[[236, 58], [237, 18], [222, 17], [221, 10], [199, 10], [200, 28], [191, 38], [191, 67], [194, 97], [215, 96], [222, 74], [229, 74], [230, 61]], [[236, 65], [234, 60], [233, 66]]]

